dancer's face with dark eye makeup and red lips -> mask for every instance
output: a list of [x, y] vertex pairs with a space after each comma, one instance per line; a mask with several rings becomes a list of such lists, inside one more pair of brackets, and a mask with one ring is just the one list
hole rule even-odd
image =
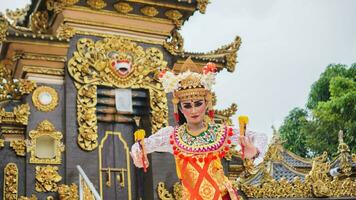
[[203, 122], [206, 111], [205, 99], [181, 101], [180, 106], [188, 124], [200, 124]]

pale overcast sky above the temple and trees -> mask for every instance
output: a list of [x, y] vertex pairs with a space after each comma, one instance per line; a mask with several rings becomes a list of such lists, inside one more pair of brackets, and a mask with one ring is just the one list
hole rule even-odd
[[[29, 1], [2, 1], [0, 11]], [[242, 38], [235, 72], [222, 71], [217, 108], [238, 105], [248, 128], [272, 136], [331, 63], [356, 62], [355, 0], [210, 0], [180, 33], [189, 52], [208, 52]], [[237, 116], [233, 121], [237, 124]]]

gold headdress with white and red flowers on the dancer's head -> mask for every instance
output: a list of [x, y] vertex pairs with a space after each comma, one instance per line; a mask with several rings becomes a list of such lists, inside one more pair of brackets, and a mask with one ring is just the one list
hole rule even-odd
[[160, 80], [165, 92], [173, 93], [173, 108], [176, 121], [179, 121], [178, 103], [189, 99], [205, 99], [208, 104], [209, 116], [214, 118], [211, 89], [215, 84], [216, 65], [207, 63], [202, 70], [189, 57], [181, 67], [181, 73], [174, 74], [164, 71]]

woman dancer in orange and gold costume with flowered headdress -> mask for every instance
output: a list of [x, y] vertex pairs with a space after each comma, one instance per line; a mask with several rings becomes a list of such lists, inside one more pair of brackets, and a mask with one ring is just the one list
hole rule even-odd
[[227, 200], [238, 199], [221, 165], [231, 145], [241, 145], [245, 158], [261, 157], [265, 151], [266, 136], [250, 131], [240, 136], [213, 118], [211, 87], [215, 82], [216, 67], [208, 63], [202, 72], [191, 59], [183, 64], [188, 70], [175, 75], [168, 71], [160, 75], [167, 93], [173, 93], [173, 106], [178, 126], [168, 126], [135, 143], [131, 149], [134, 164], [147, 167], [146, 155], [152, 152], [170, 152], [176, 161], [177, 176], [183, 185], [183, 199]]

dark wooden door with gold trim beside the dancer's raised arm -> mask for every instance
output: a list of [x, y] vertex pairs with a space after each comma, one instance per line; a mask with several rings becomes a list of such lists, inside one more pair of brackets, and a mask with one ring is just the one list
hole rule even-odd
[[133, 90], [133, 112], [120, 113], [115, 109], [113, 90], [98, 90], [99, 183], [103, 200], [136, 200], [141, 196], [129, 151], [138, 128], [133, 118], [140, 117], [140, 128], [150, 130], [147, 97], [145, 90]]

